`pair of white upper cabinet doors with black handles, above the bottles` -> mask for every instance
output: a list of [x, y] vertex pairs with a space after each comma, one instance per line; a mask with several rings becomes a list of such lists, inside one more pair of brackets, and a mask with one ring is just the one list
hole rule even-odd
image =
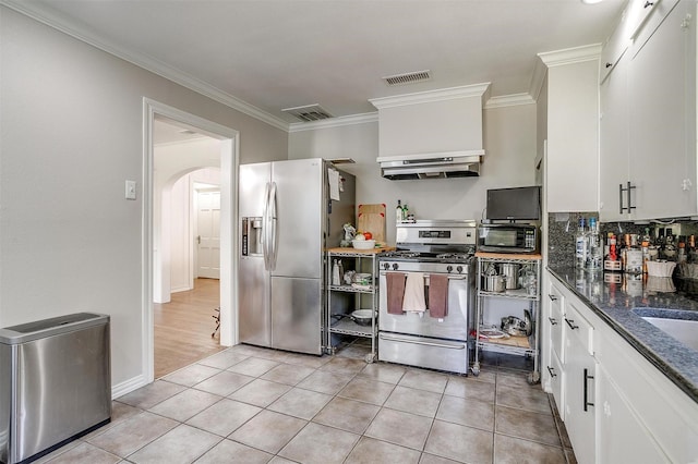
[[602, 221], [698, 211], [695, 9], [660, 2], [601, 86]]

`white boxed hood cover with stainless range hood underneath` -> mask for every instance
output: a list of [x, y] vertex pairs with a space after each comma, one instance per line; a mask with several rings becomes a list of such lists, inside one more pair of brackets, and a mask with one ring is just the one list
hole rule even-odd
[[482, 109], [490, 83], [375, 98], [384, 178], [474, 178], [485, 150]]

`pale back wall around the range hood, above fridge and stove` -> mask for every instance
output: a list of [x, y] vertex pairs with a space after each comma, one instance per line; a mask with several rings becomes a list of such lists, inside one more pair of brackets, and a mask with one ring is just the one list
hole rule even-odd
[[[292, 132], [289, 158], [352, 158], [340, 168], [357, 175], [357, 204], [387, 205], [387, 242], [395, 243], [395, 206], [407, 203], [418, 219], [481, 219], [488, 188], [533, 185], [535, 105], [484, 111], [486, 151], [479, 178], [388, 181], [381, 176], [378, 123]], [[405, 131], [418, 131], [406, 127]]]

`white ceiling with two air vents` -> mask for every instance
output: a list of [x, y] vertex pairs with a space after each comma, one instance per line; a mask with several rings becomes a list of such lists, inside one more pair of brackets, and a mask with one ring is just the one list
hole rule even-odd
[[[600, 44], [625, 0], [0, 0], [280, 125], [369, 99], [491, 82], [531, 90], [537, 53]], [[430, 70], [429, 82], [384, 76]]]

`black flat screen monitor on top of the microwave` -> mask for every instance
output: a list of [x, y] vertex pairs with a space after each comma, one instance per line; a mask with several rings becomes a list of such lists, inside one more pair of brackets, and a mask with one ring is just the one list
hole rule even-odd
[[541, 187], [492, 188], [488, 191], [486, 217], [493, 221], [539, 221]]

